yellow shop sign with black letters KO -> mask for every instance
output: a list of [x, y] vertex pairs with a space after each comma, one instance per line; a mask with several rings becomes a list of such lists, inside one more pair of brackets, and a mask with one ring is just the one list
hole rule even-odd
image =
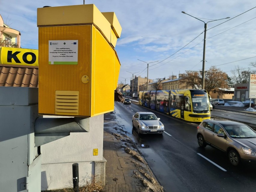
[[38, 66], [38, 50], [0, 47], [0, 64]]

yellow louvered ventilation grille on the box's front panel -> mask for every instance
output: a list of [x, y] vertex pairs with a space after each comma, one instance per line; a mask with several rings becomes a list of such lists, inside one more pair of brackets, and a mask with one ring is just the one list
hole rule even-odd
[[78, 115], [79, 91], [55, 91], [55, 114]]

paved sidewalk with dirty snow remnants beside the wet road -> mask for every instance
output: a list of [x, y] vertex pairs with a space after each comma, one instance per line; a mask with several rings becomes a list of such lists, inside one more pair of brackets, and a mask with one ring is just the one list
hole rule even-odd
[[103, 157], [107, 160], [105, 192], [163, 192], [114, 111], [104, 114]]

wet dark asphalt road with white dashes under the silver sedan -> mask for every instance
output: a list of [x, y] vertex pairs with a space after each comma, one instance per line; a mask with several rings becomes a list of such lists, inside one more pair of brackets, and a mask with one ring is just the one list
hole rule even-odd
[[166, 192], [255, 190], [256, 165], [243, 163], [234, 167], [223, 152], [209, 146], [199, 148], [197, 124], [154, 111], [165, 125], [165, 133], [138, 137], [136, 132], [132, 134], [132, 115], [137, 111], [151, 110], [134, 103], [115, 102], [117, 120], [138, 144]]

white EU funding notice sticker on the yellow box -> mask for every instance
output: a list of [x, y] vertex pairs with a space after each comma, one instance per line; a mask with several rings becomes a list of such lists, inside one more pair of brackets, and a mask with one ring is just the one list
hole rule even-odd
[[50, 65], [77, 65], [78, 40], [49, 40]]

